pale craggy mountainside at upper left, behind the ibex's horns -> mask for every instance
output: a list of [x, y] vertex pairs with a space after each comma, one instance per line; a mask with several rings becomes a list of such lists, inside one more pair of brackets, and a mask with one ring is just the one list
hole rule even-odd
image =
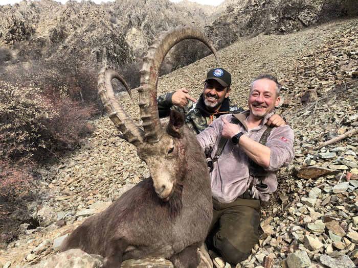
[[208, 6], [168, 0], [117, 1], [96, 5], [53, 0], [0, 6], [0, 44], [37, 48], [45, 56], [81, 51], [102, 65], [141, 57], [153, 37], [177, 25], [201, 28]]

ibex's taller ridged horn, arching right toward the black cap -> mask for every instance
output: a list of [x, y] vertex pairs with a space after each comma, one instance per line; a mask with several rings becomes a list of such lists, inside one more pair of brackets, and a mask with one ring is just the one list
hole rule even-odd
[[164, 132], [160, 125], [156, 102], [156, 86], [164, 57], [176, 43], [190, 38], [205, 43], [215, 55], [217, 64], [220, 66], [215, 47], [210, 39], [194, 28], [178, 26], [162, 33], [158, 39], [154, 40], [148, 48], [147, 56], [143, 58], [143, 68], [140, 71], [141, 86], [138, 88], [142, 126], [145, 138], [149, 143], [159, 141]]

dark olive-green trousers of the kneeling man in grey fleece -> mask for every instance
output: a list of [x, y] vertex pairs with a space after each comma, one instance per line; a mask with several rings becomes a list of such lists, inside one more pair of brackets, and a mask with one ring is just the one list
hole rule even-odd
[[238, 197], [232, 203], [213, 199], [213, 221], [206, 240], [209, 248], [236, 265], [249, 257], [260, 239], [260, 201]]

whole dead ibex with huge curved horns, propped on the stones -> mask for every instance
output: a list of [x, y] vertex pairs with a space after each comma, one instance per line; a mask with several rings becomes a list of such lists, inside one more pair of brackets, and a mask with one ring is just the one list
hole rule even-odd
[[[101, 69], [98, 93], [109, 118], [123, 137], [137, 147], [150, 178], [125, 192], [106, 210], [89, 217], [63, 241], [60, 252], [79, 248], [104, 257], [104, 267], [118, 268], [123, 260], [163, 257], [174, 267], [196, 267], [197, 248], [212, 220], [211, 185], [203, 149], [172, 111], [160, 121], [156, 102], [158, 74], [170, 48], [181, 40], [204, 42], [216, 57], [209, 39], [189, 27], [177, 27], [154, 40], [143, 59], [139, 106], [143, 129], [119, 105], [111, 80], [124, 79], [111, 67]], [[217, 59], [217, 57], [216, 57]], [[218, 61], [218, 60], [217, 60]]]

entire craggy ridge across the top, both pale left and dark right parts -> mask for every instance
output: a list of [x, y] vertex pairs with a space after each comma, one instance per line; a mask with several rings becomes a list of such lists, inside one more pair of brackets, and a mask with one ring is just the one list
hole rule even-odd
[[[222, 48], [241, 37], [261, 32], [293, 33], [345, 15], [337, 6], [337, 14], [327, 17], [326, 2], [227, 0], [211, 7], [168, 0], [123, 0], [100, 5], [75, 0], [65, 5], [54, 0], [24, 0], [0, 6], [0, 45], [12, 48], [15, 59], [24, 53], [36, 52], [37, 57], [47, 59], [82, 52], [92, 63], [122, 66], [141, 58], [153, 38], [170, 27], [196, 27]], [[28, 52], [22, 51], [21, 45], [28, 47]]]

